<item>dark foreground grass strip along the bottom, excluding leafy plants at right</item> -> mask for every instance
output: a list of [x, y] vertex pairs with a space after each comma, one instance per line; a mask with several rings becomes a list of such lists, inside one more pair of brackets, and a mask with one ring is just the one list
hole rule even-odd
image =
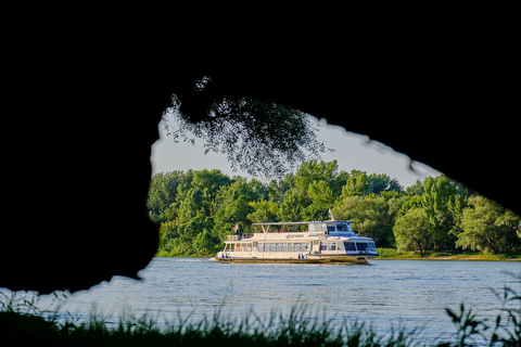
[[309, 320], [305, 309], [290, 317], [254, 314], [239, 321], [219, 314], [198, 323], [177, 322], [166, 327], [143, 317], [110, 326], [103, 319], [59, 323], [27, 312], [0, 312], [0, 346], [411, 346], [405, 331], [378, 336], [361, 323], [338, 325]]

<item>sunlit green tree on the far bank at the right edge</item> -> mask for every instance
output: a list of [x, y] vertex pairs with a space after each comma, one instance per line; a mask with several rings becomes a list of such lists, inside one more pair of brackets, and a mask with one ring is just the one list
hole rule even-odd
[[521, 218], [484, 196], [469, 197], [456, 245], [493, 254], [519, 250]]

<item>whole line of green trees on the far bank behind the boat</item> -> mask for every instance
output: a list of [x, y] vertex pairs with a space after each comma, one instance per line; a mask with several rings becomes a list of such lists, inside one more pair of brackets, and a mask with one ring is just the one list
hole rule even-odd
[[521, 252], [521, 218], [441, 175], [404, 188], [385, 174], [340, 171], [336, 160], [304, 162], [295, 174], [263, 183], [220, 170], [152, 177], [147, 203], [161, 224], [160, 256], [214, 255], [239, 223], [353, 221], [377, 247], [492, 254]]

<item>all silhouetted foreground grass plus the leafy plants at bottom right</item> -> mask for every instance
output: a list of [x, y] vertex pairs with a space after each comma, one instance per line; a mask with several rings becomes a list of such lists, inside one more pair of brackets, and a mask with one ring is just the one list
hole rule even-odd
[[[461, 304], [459, 311], [446, 309], [455, 332], [446, 340], [449, 346], [521, 346], [521, 275], [516, 277], [519, 290], [505, 287], [495, 293], [503, 303], [501, 313], [494, 320], [480, 320]], [[1, 294], [1, 292], [0, 292]], [[326, 318], [310, 319], [307, 307], [297, 305], [289, 316], [271, 313], [262, 318], [251, 312], [242, 319], [223, 317], [217, 311], [199, 322], [178, 319], [160, 324], [156, 320], [123, 316], [110, 323], [91, 317], [86, 322], [45, 314], [35, 305], [16, 296], [3, 295], [0, 300], [0, 346], [423, 346], [421, 331], [391, 330], [374, 333], [360, 322], [338, 322]]]

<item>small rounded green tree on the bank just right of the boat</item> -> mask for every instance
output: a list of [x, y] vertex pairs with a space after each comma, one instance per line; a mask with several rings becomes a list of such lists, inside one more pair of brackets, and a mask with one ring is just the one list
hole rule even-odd
[[410, 208], [397, 218], [393, 232], [398, 250], [414, 250], [423, 257], [431, 247], [429, 220], [421, 208]]

